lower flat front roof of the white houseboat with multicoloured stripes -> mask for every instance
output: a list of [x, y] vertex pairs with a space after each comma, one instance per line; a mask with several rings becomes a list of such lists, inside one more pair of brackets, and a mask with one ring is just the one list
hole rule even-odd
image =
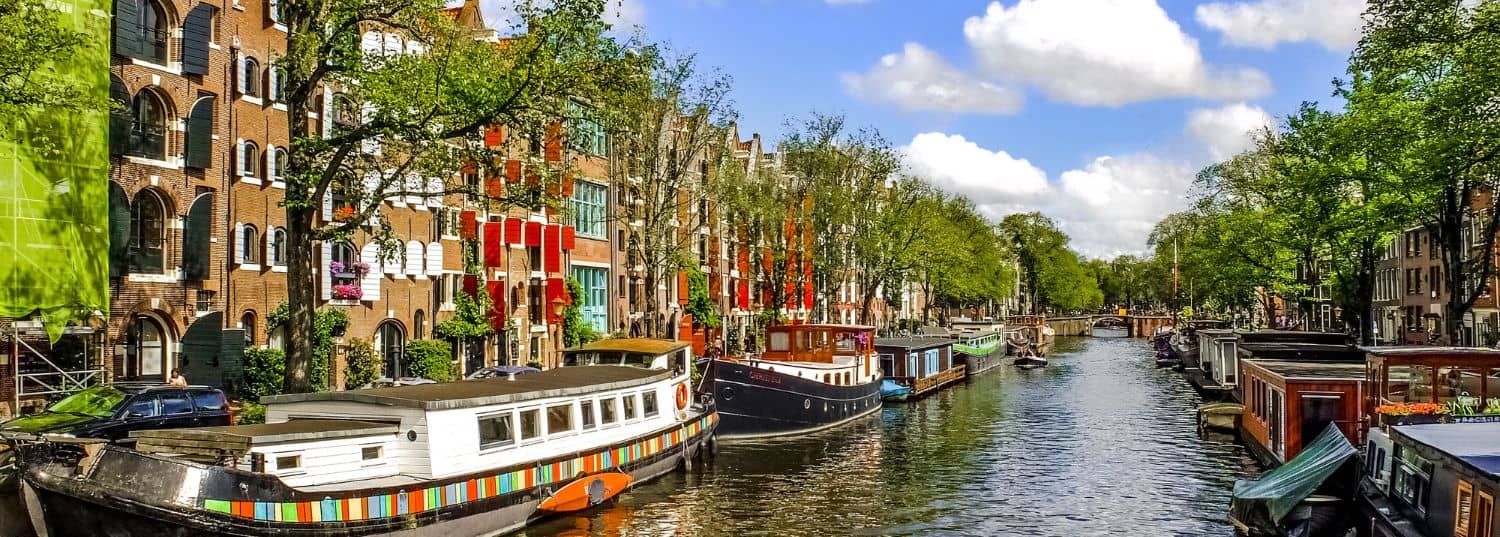
[[134, 430], [132, 438], [165, 441], [214, 441], [238, 444], [280, 444], [292, 441], [333, 440], [350, 436], [394, 435], [393, 423], [354, 420], [291, 420], [280, 423], [228, 424], [192, 429]]

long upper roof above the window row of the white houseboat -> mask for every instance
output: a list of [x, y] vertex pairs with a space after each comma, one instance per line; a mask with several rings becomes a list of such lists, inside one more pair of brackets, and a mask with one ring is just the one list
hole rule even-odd
[[454, 410], [512, 402], [579, 396], [594, 392], [627, 388], [662, 381], [672, 376], [669, 370], [628, 366], [574, 366], [555, 368], [538, 374], [508, 378], [482, 378], [458, 382], [396, 386], [388, 388], [288, 393], [261, 398], [267, 405], [306, 400], [350, 400], [387, 406], [411, 406], [422, 410]]

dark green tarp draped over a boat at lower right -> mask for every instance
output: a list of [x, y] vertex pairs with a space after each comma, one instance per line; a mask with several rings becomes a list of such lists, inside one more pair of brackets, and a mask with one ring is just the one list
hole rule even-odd
[[1280, 524], [1354, 453], [1348, 438], [1344, 438], [1338, 426], [1329, 423], [1328, 429], [1323, 429], [1311, 444], [1304, 446], [1294, 459], [1260, 476], [1258, 480], [1234, 482], [1230, 516], [1242, 524], [1254, 524], [1269, 516], [1272, 524]]

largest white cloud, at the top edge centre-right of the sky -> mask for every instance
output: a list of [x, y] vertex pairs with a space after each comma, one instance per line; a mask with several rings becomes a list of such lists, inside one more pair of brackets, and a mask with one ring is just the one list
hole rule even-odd
[[986, 74], [1062, 102], [1242, 100], [1270, 92], [1260, 70], [1204, 63], [1197, 40], [1154, 0], [1020, 0], [1011, 9], [993, 2], [963, 33]]

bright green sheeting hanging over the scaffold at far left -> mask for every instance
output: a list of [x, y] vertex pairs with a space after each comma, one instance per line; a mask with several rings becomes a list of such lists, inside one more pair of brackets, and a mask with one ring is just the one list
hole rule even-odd
[[[48, 4], [63, 28], [90, 39], [45, 69], [105, 100], [110, 2]], [[108, 126], [102, 106], [0, 114], [0, 316], [40, 314], [52, 340], [68, 322], [110, 310]]]

